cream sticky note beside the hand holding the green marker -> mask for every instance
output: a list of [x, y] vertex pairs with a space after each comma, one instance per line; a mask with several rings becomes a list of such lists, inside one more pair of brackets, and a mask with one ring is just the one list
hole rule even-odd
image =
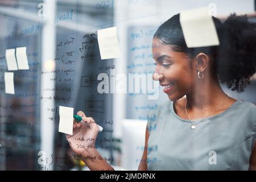
[[59, 132], [73, 135], [73, 111], [72, 107], [59, 107]]

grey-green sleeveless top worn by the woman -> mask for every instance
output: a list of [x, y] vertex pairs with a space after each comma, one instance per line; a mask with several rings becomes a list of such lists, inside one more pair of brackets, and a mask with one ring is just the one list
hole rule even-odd
[[[236, 101], [191, 129], [167, 101], [151, 110], [148, 170], [247, 170], [256, 140], [256, 106]], [[197, 123], [199, 120], [192, 120]]]

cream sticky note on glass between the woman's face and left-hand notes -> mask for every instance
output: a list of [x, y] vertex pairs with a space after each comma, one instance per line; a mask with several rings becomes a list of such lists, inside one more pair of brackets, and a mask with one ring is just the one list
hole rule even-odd
[[98, 30], [97, 35], [101, 59], [113, 59], [120, 56], [117, 27]]

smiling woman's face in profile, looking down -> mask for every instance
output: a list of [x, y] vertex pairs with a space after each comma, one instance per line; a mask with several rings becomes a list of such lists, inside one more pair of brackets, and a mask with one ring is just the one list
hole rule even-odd
[[187, 55], [175, 52], [170, 45], [162, 44], [157, 38], [153, 39], [152, 52], [156, 63], [155, 73], [159, 74], [159, 84], [169, 99], [175, 101], [190, 92], [195, 79]]

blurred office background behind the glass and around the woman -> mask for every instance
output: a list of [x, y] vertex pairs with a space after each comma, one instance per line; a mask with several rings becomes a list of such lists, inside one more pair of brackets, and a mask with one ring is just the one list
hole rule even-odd
[[[148, 100], [151, 93], [99, 94], [97, 75], [154, 73], [151, 41], [158, 26], [203, 6], [223, 20], [233, 12], [256, 20], [253, 0], [0, 0], [0, 169], [87, 169], [58, 132], [59, 106], [82, 110], [104, 127], [96, 146], [107, 162], [137, 169], [148, 111], [168, 98], [161, 89], [157, 100]], [[97, 30], [114, 26], [121, 56], [101, 60]], [[14, 71], [11, 95], [5, 51], [16, 47], [27, 47], [30, 69]], [[243, 93], [223, 88], [256, 103], [255, 77]]]

